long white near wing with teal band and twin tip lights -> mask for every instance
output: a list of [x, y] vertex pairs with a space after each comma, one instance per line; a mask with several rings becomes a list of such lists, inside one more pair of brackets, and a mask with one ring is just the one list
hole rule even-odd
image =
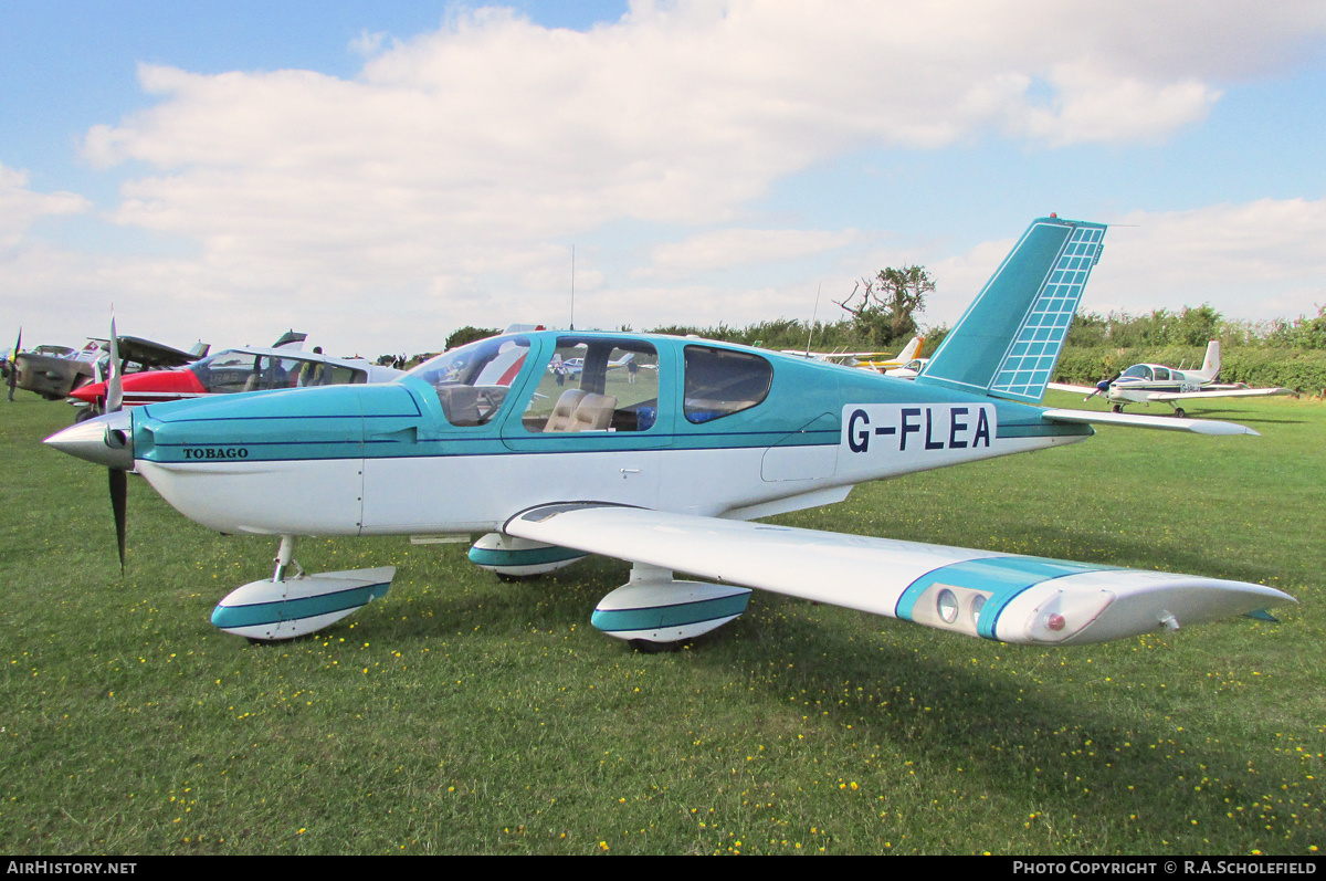
[[503, 531], [1004, 642], [1103, 642], [1294, 602], [1241, 581], [598, 503], [530, 508]]

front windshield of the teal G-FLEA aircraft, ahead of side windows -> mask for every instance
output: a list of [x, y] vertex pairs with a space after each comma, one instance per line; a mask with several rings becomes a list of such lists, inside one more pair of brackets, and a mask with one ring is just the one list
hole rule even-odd
[[407, 375], [423, 379], [438, 391], [447, 422], [479, 426], [501, 409], [528, 354], [529, 337], [489, 337], [430, 358]]

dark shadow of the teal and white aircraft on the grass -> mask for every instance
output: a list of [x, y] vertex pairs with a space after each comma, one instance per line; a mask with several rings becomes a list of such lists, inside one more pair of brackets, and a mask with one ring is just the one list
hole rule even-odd
[[[418, 641], [420, 646], [435, 640], [439, 630], [468, 632], [476, 616], [483, 617], [485, 628], [511, 632], [565, 629], [583, 621], [583, 609], [594, 604], [603, 585], [621, 577], [621, 564], [609, 560], [585, 561], [575, 568], [575, 577], [552, 576], [553, 581], [509, 584], [465, 597], [452, 598], [443, 590], [428, 602], [411, 604], [410, 621], [391, 628], [375, 621], [374, 628], [378, 633], [390, 629], [392, 640]], [[560, 594], [556, 601], [546, 594], [549, 588]], [[426, 610], [431, 616], [419, 614]], [[1102, 707], [1095, 670], [1067, 674], [1093, 679], [1095, 694], [1079, 695], [1069, 694], [1073, 686], [1058, 663], [1053, 663], [1044, 686], [1036, 682], [1040, 677], [1029, 686], [1028, 674], [1010, 677], [1000, 670], [1049, 665], [1044, 649], [981, 646], [987, 649], [981, 657], [991, 663], [977, 673], [927, 654], [926, 646], [943, 637], [896, 621], [867, 628], [850, 626], [845, 618], [850, 613], [833, 606], [762, 596], [724, 638], [704, 634], [692, 642], [696, 650], [684, 655], [640, 657], [633, 663], [666, 665], [680, 657], [687, 665], [713, 673], [715, 687], [753, 687], [770, 705], [790, 709], [798, 720], [810, 715], [812, 727], [851, 726], [850, 739], [859, 746], [845, 747], [841, 759], [846, 766], [858, 754], [874, 754], [874, 767], [861, 770], [863, 785], [884, 778], [926, 789], [934, 787], [936, 775], [948, 778], [952, 768], [963, 768], [972, 781], [969, 789], [960, 791], [967, 803], [960, 805], [949, 789], [936, 791], [941, 807], [980, 812], [983, 805], [972, 804], [972, 799], [988, 789], [1009, 803], [1048, 812], [1041, 821], [1055, 828], [1069, 828], [1069, 815], [1077, 815], [1079, 820], [1071, 825], [1086, 831], [1086, 837], [1061, 841], [1087, 850], [1116, 840], [1120, 827], [1140, 827], [1143, 821], [1130, 823], [1128, 817], [1142, 816], [1148, 805], [1193, 805], [1193, 787], [1203, 779], [1220, 781], [1219, 788], [1199, 797], [1199, 803], [1209, 805], [1197, 804], [1189, 813], [1201, 823], [1201, 833], [1212, 836], [1207, 821], [1223, 817], [1228, 808], [1224, 799], [1252, 804], [1261, 797], [1257, 787], [1268, 783], [1248, 778], [1246, 756], [1229, 756], [1197, 734], [1176, 735], [1176, 726], [1152, 722], [1170, 715], [1171, 705], [1185, 689], [1213, 691], [1209, 682], [1170, 683], [1166, 691], [1151, 685], [1138, 690], [1120, 682], [1105, 686], [1116, 691], [1119, 701]], [[821, 657], [831, 661], [817, 663]], [[1148, 667], [1143, 675], [1159, 673]], [[686, 722], [695, 724], [703, 722]], [[908, 770], [915, 776], [898, 770], [903, 762], [914, 763]], [[890, 791], [865, 795], [871, 796], [873, 809], [888, 812]], [[879, 796], [884, 800], [878, 801]], [[1252, 816], [1240, 819], [1252, 821]], [[896, 844], [896, 832], [916, 823], [915, 816], [886, 817], [880, 820], [880, 840]], [[1098, 837], [1090, 832], [1094, 824], [1099, 824]], [[1175, 828], [1164, 835], [1184, 840], [1193, 831]], [[1219, 839], [1212, 841], [1219, 847]], [[953, 841], [957, 848], [964, 844]], [[980, 841], [969, 845], [987, 847]]]

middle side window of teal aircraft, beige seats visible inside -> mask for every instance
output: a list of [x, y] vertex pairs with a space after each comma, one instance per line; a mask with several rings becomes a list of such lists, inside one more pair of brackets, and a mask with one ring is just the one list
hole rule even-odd
[[658, 423], [659, 358], [648, 342], [558, 337], [522, 422], [532, 434], [648, 431]]

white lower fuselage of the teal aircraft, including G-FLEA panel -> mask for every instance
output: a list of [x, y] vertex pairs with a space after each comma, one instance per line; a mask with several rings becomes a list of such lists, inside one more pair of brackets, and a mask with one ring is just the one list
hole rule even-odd
[[[751, 519], [846, 498], [853, 484], [1012, 455], [1087, 435], [975, 438], [976, 407], [849, 405], [839, 443], [491, 455], [154, 463], [139, 472], [175, 508], [220, 532], [491, 532], [552, 500], [594, 500]], [[968, 414], [968, 411], [973, 414]], [[854, 413], [869, 415], [858, 415]], [[927, 425], [927, 417], [930, 422]], [[896, 431], [887, 431], [892, 421]], [[976, 444], [973, 446], [973, 438]]]

